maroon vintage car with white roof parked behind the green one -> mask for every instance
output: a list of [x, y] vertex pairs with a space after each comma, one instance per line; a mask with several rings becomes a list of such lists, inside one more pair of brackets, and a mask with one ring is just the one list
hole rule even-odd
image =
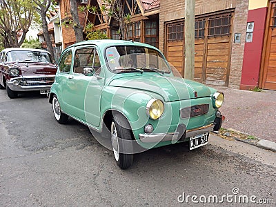
[[0, 53], [0, 88], [6, 88], [11, 99], [18, 92], [32, 90], [47, 94], [56, 72], [57, 66], [46, 50], [7, 48]]

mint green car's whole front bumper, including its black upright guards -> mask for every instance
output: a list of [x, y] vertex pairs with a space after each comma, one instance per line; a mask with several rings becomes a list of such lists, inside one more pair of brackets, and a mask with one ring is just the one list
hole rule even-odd
[[175, 132], [158, 134], [139, 134], [139, 139], [143, 143], [159, 143], [160, 141], [184, 141], [184, 139], [189, 137], [195, 137], [197, 135], [202, 135], [204, 133], [212, 132], [214, 130], [219, 130], [219, 128], [221, 127], [221, 123], [224, 121], [224, 119], [224, 116], [216, 117], [214, 124], [209, 124], [207, 126], [194, 128], [191, 130], [186, 130], [186, 126], [184, 124], [179, 124]]

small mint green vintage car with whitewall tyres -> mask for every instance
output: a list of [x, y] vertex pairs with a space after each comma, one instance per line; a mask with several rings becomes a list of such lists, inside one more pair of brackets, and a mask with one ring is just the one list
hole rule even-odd
[[184, 141], [193, 150], [221, 128], [223, 93], [175, 74], [145, 43], [83, 41], [63, 50], [49, 102], [57, 122], [88, 126], [126, 169], [135, 153]]

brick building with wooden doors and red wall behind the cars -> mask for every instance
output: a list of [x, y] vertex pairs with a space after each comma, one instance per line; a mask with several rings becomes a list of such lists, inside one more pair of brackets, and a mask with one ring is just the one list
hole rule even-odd
[[[101, 0], [77, 1], [100, 8]], [[157, 46], [184, 75], [185, 0], [122, 0], [131, 14], [128, 39]], [[214, 86], [276, 90], [276, 0], [195, 0], [195, 80]], [[70, 0], [60, 0], [61, 21], [70, 19]], [[68, 15], [69, 14], [69, 15]], [[79, 14], [118, 39], [118, 26], [108, 19]], [[274, 34], [275, 33], [275, 34]], [[63, 46], [75, 42], [70, 27], [62, 27]], [[274, 51], [275, 50], [275, 51]]]

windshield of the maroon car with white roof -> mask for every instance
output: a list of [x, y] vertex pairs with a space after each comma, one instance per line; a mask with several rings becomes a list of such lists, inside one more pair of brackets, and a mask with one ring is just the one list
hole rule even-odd
[[7, 61], [52, 62], [47, 52], [14, 50], [7, 53]]

